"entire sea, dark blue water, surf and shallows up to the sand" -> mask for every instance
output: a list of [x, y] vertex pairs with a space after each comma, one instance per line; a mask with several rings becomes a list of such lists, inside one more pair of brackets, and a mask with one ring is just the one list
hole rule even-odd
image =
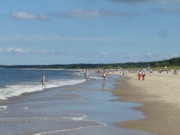
[[154, 135], [116, 127], [145, 118], [132, 109], [141, 104], [112, 101], [119, 76], [89, 75], [86, 81], [83, 71], [0, 69], [0, 135]]

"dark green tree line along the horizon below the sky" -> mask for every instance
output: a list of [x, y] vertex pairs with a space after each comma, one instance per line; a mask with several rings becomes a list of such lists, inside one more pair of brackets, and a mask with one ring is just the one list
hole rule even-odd
[[45, 69], [112, 69], [112, 68], [147, 68], [147, 67], [165, 67], [165, 66], [180, 66], [180, 57], [172, 58], [163, 61], [153, 62], [127, 62], [127, 63], [112, 63], [112, 64], [54, 64], [54, 65], [0, 65], [0, 68], [45, 68]]

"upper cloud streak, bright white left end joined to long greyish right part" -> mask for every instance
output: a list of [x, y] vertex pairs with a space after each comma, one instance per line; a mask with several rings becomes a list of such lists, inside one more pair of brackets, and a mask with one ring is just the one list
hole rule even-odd
[[11, 17], [18, 20], [42, 20], [48, 21], [51, 17], [66, 17], [66, 18], [103, 18], [103, 17], [134, 17], [139, 15], [138, 12], [123, 12], [118, 10], [86, 10], [76, 9], [73, 11], [56, 12], [49, 15], [45, 14], [30, 14], [27, 12], [11, 12]]

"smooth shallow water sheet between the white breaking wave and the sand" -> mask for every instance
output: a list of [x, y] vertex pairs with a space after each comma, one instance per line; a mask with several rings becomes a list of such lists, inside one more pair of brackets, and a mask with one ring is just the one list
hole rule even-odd
[[[152, 135], [118, 128], [114, 122], [144, 118], [137, 103], [111, 102], [114, 79], [92, 79], [4, 101], [2, 135]], [[104, 90], [103, 90], [104, 89]], [[103, 90], [103, 91], [90, 91]]]

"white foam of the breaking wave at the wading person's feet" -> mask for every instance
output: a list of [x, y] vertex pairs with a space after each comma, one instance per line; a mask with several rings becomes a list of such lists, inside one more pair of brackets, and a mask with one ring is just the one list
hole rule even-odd
[[[65, 85], [75, 85], [85, 80], [51, 80], [46, 83], [46, 88], [55, 88]], [[21, 83], [16, 85], [8, 85], [0, 88], [0, 100], [7, 100], [10, 97], [20, 96], [24, 93], [44, 90], [40, 83]]]

